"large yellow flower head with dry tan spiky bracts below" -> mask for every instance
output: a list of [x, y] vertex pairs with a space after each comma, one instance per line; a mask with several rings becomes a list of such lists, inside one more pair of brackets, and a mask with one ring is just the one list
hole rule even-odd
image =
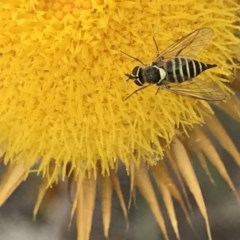
[[[194, 4], [189, 0], [2, 1], [0, 144], [9, 168], [1, 182], [1, 204], [30, 172], [37, 172], [46, 181], [36, 213], [47, 187], [59, 178], [71, 176], [77, 186], [73, 212], [77, 209], [79, 239], [88, 239], [96, 178], [100, 177], [107, 236], [112, 189], [127, 216], [116, 176], [120, 161], [131, 176], [131, 195], [135, 187], [140, 189], [167, 239], [145, 170], [149, 166], [179, 236], [172, 198], [184, 211], [186, 206], [180, 191], [167, 177], [161, 160], [167, 157], [193, 192], [210, 238], [203, 197], [184, 144], [199, 138], [201, 144], [191, 141], [191, 148], [202, 162], [202, 153], [210, 159], [214, 156], [215, 166], [235, 191], [214, 147], [210, 143], [212, 148], [208, 149], [209, 140], [199, 127], [207, 121], [216, 126], [213, 132], [219, 134], [221, 125], [216, 119], [209, 120], [213, 111], [205, 101], [167, 91], [155, 95], [156, 86], [123, 101], [137, 88], [124, 77], [136, 63], [120, 51], [148, 63], [156, 55], [153, 36], [163, 50], [197, 28], [211, 27], [213, 41], [198, 59], [218, 67], [203, 73], [197, 81], [213, 82], [227, 93], [222, 81], [230, 79], [236, 67], [231, 49], [239, 43], [234, 35], [239, 10], [230, 1], [220, 4], [215, 0]], [[226, 133], [221, 136], [227, 138]], [[228, 141], [239, 162], [237, 150]]]

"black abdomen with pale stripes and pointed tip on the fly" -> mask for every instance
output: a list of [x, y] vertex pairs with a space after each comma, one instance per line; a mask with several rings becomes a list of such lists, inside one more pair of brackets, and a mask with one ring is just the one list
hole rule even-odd
[[194, 78], [203, 71], [216, 67], [216, 64], [202, 63], [193, 59], [173, 58], [164, 63], [166, 80], [169, 82], [183, 82]]

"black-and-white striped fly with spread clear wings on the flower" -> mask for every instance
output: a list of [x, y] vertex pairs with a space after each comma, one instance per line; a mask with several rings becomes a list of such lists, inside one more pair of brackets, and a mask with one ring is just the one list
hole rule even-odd
[[194, 59], [207, 45], [212, 35], [211, 28], [197, 29], [170, 45], [162, 53], [159, 53], [156, 40], [153, 38], [158, 54], [149, 65], [145, 65], [138, 58], [122, 52], [143, 65], [134, 67], [131, 74], [125, 73], [128, 77], [127, 80], [133, 80], [136, 85], [141, 86], [141, 88], [128, 95], [125, 100], [151, 84], [158, 86], [156, 94], [160, 89], [165, 89], [176, 94], [202, 100], [223, 100], [225, 94], [216, 84], [206, 81], [204, 85], [200, 86], [196, 84], [196, 81], [190, 81], [203, 71], [217, 66]]

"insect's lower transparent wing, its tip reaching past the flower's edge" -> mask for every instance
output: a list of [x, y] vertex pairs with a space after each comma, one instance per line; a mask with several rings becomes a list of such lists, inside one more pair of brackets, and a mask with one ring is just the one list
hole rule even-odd
[[161, 89], [175, 94], [188, 96], [206, 101], [222, 101], [227, 94], [214, 82], [193, 80], [180, 84], [166, 84]]

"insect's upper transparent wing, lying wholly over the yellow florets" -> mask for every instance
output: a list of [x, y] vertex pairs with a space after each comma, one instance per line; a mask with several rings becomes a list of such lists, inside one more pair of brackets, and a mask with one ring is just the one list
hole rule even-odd
[[170, 45], [157, 56], [153, 64], [161, 65], [163, 61], [177, 56], [194, 58], [208, 44], [212, 35], [213, 31], [211, 28], [197, 29]]

